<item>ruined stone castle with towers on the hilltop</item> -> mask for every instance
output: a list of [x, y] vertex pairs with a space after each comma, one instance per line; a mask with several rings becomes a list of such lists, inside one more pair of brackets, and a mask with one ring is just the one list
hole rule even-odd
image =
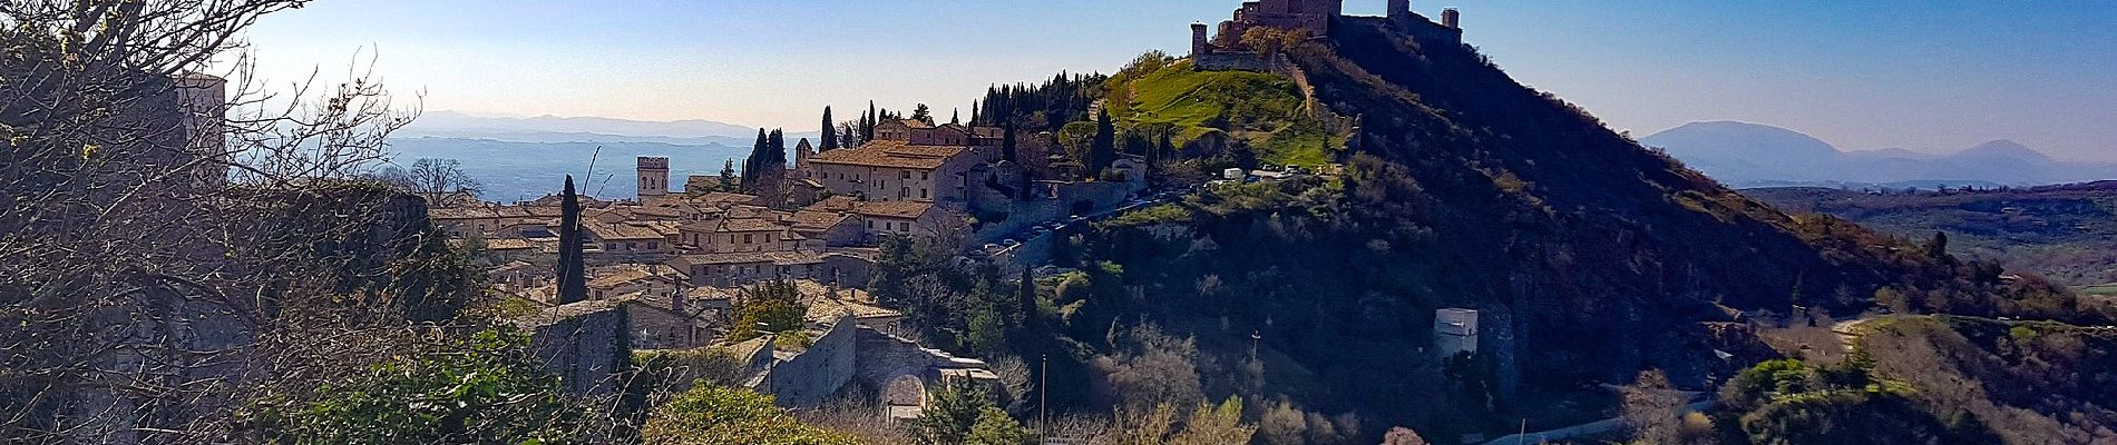
[[1321, 38], [1344, 19], [1380, 19], [1421, 42], [1463, 42], [1463, 15], [1454, 8], [1444, 8], [1435, 23], [1412, 13], [1412, 0], [1389, 0], [1389, 17], [1346, 17], [1344, 0], [1251, 0], [1234, 8], [1234, 17], [1219, 21], [1213, 36], [1207, 36], [1205, 23], [1192, 23], [1192, 65], [1207, 72], [1268, 72], [1272, 55], [1249, 49], [1243, 34], [1274, 27]]

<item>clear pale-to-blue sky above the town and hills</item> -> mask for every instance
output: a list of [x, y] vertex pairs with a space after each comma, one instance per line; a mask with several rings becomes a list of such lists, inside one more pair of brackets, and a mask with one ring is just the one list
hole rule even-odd
[[[1183, 55], [1236, 0], [320, 0], [263, 17], [258, 74], [373, 57], [426, 110], [817, 127], [868, 99], [936, 114], [995, 82]], [[1385, 0], [1346, 0], [1380, 15]], [[1844, 150], [2013, 139], [2117, 160], [2117, 2], [1412, 0], [1463, 11], [1516, 80], [1647, 135], [1694, 120], [1795, 129]]]

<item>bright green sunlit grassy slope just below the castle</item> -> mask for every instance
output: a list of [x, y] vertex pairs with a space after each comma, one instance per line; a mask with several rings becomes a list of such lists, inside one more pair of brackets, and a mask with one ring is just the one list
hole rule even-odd
[[1247, 141], [1270, 165], [1323, 165], [1344, 146], [1302, 108], [1293, 80], [1257, 72], [1198, 72], [1190, 61], [1135, 65], [1105, 86], [1126, 129], [1173, 129], [1179, 148], [1213, 135]]

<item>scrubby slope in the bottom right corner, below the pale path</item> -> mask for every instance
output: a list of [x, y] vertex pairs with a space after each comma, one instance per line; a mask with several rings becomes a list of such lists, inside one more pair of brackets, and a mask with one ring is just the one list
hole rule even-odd
[[1721, 388], [1721, 443], [2111, 443], [2117, 331], [1969, 316], [1857, 327], [1852, 361]]

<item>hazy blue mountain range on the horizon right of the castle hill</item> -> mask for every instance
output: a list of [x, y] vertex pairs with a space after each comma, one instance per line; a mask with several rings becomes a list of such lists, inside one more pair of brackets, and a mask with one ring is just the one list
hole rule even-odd
[[2041, 186], [2117, 179], [2117, 165], [2053, 160], [1998, 139], [1954, 154], [1901, 148], [1846, 152], [1751, 122], [1691, 122], [1639, 139], [1734, 188], [1766, 186]]

